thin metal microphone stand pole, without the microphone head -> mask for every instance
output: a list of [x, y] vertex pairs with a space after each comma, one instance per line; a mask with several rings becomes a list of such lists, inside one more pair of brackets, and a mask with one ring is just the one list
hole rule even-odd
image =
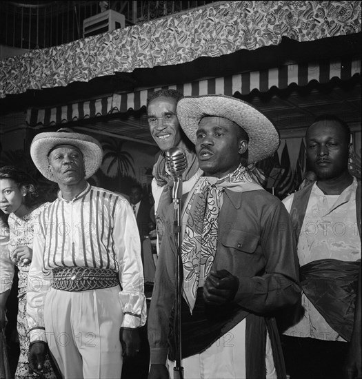
[[174, 187], [172, 189], [172, 201], [174, 203], [174, 234], [176, 238], [176, 307], [174, 312], [174, 336], [176, 351], [176, 366], [174, 367], [174, 379], [183, 379], [183, 367], [181, 367], [181, 298], [182, 298], [182, 259], [181, 259], [181, 198], [182, 198], [182, 178], [174, 177]]

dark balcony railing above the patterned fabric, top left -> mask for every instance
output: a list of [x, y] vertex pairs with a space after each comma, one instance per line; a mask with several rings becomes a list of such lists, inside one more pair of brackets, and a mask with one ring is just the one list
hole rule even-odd
[[83, 38], [83, 20], [106, 9], [125, 26], [165, 17], [214, 1], [1, 1], [0, 44], [31, 50]]

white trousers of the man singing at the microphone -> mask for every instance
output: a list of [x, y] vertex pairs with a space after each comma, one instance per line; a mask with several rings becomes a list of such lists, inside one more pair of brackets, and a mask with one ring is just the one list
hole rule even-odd
[[[170, 378], [175, 362], [168, 360]], [[266, 378], [276, 378], [272, 346], [267, 334], [265, 349]], [[185, 379], [245, 379], [245, 318], [201, 354], [182, 360]]]

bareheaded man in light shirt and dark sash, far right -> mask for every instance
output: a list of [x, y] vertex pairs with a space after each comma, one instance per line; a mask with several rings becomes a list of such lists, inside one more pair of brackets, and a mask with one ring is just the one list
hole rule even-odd
[[291, 379], [362, 375], [361, 354], [356, 356], [358, 370], [343, 368], [354, 320], [361, 324], [361, 307], [354, 314], [361, 269], [361, 181], [348, 172], [350, 135], [338, 117], [319, 116], [305, 135], [307, 164], [316, 180], [283, 200], [296, 235], [303, 288], [302, 307], [283, 337]]

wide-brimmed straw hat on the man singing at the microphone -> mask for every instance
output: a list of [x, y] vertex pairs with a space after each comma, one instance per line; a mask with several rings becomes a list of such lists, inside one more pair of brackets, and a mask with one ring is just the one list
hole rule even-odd
[[196, 132], [203, 116], [234, 121], [249, 136], [248, 164], [272, 155], [279, 147], [279, 133], [272, 122], [245, 101], [225, 95], [185, 96], [177, 103], [177, 118], [186, 136], [196, 143]]

